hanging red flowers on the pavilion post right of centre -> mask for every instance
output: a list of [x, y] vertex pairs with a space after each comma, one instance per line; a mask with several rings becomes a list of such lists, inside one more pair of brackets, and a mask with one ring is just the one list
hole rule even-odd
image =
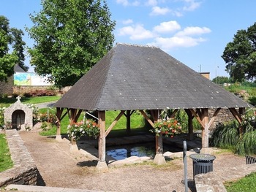
[[167, 120], [160, 120], [154, 123], [154, 128], [150, 131], [155, 133], [157, 137], [160, 134], [165, 134], [165, 137], [173, 137], [174, 134], [181, 132], [181, 124], [174, 118], [168, 118]]

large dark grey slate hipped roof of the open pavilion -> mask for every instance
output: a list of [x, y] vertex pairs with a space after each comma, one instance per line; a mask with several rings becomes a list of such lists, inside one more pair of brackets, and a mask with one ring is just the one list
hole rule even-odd
[[251, 107], [157, 47], [117, 44], [54, 105], [82, 110]]

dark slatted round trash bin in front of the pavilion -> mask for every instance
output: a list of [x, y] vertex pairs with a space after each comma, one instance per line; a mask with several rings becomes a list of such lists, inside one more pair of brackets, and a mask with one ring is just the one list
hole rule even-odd
[[214, 155], [197, 153], [189, 155], [193, 160], [193, 177], [195, 180], [196, 174], [208, 173], [214, 170], [214, 159], [216, 158]]

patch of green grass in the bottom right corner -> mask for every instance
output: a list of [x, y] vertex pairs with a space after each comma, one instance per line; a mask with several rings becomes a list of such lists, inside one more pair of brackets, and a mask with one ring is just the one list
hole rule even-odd
[[236, 182], [225, 183], [225, 188], [227, 192], [256, 192], [256, 172]]

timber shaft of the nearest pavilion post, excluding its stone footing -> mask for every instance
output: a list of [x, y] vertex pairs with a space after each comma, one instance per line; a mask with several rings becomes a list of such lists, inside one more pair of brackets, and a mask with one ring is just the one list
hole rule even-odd
[[105, 161], [106, 158], [106, 137], [105, 137], [105, 111], [98, 111], [99, 117], [99, 161]]

